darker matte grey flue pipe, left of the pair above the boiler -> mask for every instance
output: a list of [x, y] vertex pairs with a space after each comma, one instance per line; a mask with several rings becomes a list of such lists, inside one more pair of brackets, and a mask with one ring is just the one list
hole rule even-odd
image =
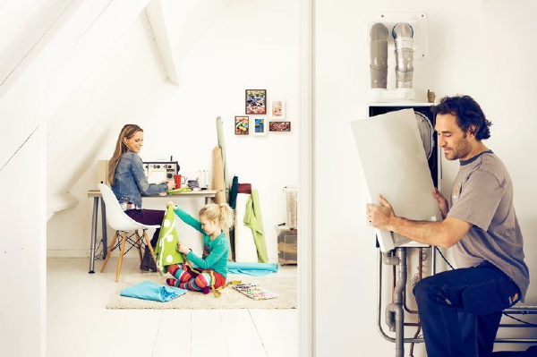
[[371, 88], [386, 89], [388, 82], [388, 28], [375, 23], [370, 31]]

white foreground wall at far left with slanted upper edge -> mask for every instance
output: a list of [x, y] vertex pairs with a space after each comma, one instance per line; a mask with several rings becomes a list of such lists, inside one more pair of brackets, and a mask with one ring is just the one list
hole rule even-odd
[[[82, 2], [29, 3], [4, 1], [0, 5], [0, 137], [4, 143], [0, 160], [4, 187], [0, 344], [3, 355], [21, 357], [46, 351], [47, 118], [91, 67], [71, 72], [77, 50], [88, 48], [98, 24], [109, 21], [110, 14], [122, 13], [128, 18], [143, 8], [141, 2], [108, 2], [104, 6], [110, 11], [103, 15], [97, 2], [90, 9], [81, 6]], [[119, 22], [107, 31], [107, 38], [98, 44], [100, 49], [115, 38]], [[87, 52], [93, 59], [99, 57], [98, 50]]]

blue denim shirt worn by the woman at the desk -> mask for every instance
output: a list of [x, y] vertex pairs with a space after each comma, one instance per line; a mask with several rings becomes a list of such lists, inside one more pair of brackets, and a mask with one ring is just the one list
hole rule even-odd
[[132, 202], [141, 208], [141, 196], [157, 195], [167, 191], [166, 183], [148, 183], [143, 171], [141, 157], [127, 151], [115, 166], [115, 179], [112, 191], [120, 202]]

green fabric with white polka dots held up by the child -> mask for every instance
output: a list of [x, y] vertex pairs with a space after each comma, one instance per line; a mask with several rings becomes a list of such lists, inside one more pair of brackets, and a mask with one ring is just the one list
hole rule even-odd
[[175, 212], [173, 206], [166, 209], [166, 215], [160, 225], [160, 234], [158, 234], [157, 248], [157, 266], [164, 273], [167, 273], [167, 266], [177, 263], [183, 263], [183, 253], [176, 250], [179, 237], [175, 230]]

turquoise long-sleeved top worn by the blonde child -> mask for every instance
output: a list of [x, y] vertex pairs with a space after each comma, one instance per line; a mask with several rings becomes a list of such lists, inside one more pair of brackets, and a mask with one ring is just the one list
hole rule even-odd
[[201, 229], [201, 223], [196, 218], [192, 217], [183, 209], [175, 208], [175, 215], [181, 218], [184, 223], [192, 226], [195, 230], [203, 234], [203, 257], [200, 258], [192, 251], [186, 255], [197, 267], [201, 269], [212, 269], [222, 276], [227, 277], [227, 258], [229, 257], [229, 248], [227, 246], [226, 234], [218, 235], [213, 241], [210, 240], [210, 235], [205, 234]]

